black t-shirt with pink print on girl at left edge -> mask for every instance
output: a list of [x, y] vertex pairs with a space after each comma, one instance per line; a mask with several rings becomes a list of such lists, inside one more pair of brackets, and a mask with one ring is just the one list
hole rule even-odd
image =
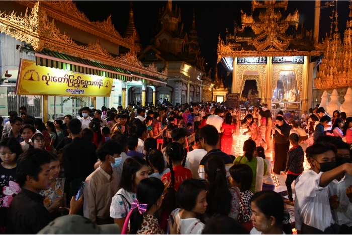
[[0, 227], [6, 226], [10, 204], [19, 193], [16, 168], [6, 169], [0, 163]]

